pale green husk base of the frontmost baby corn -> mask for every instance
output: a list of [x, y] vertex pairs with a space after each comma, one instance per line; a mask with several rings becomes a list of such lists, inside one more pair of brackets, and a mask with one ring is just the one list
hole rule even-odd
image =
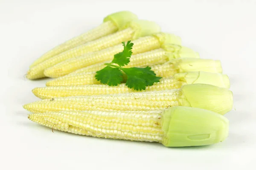
[[166, 147], [209, 145], [228, 136], [228, 119], [212, 111], [177, 106], [163, 111], [161, 119]]

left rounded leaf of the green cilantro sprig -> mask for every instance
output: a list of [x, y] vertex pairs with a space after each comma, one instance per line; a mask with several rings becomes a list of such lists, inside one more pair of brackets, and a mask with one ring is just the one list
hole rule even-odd
[[107, 84], [109, 86], [116, 86], [122, 82], [122, 71], [119, 68], [113, 68], [106, 66], [100, 71], [96, 71], [95, 78], [102, 84]]

